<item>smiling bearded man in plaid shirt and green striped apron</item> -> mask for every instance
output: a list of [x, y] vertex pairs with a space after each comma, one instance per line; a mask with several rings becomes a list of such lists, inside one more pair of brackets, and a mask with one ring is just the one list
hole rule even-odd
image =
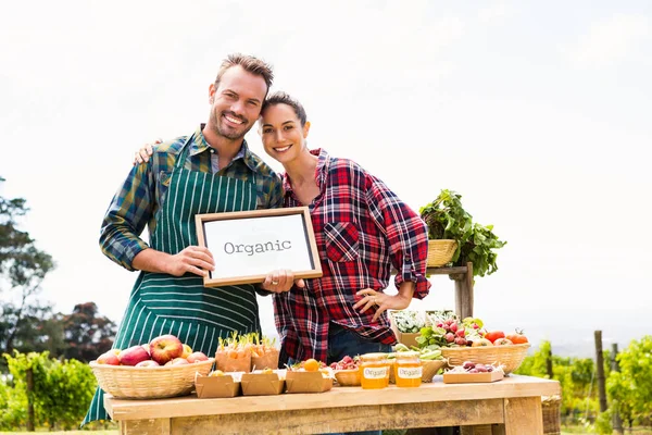
[[[283, 206], [280, 178], [244, 140], [272, 80], [271, 66], [261, 60], [228, 55], [209, 87], [208, 123], [161, 144], [148, 164], [134, 166], [114, 196], [100, 246], [123, 268], [141, 271], [114, 348], [173, 334], [193, 350], [214, 355], [218, 337], [260, 332], [253, 285], [203, 287], [214, 261], [197, 246], [195, 215]], [[139, 237], [146, 225], [149, 245]], [[287, 291], [292, 284], [290, 272], [276, 271], [260, 288]], [[83, 425], [108, 419], [102, 396], [98, 389]]]

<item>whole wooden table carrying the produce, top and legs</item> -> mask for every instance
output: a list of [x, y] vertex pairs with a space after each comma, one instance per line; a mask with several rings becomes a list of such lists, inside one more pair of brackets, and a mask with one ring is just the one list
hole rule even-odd
[[[121, 434], [311, 434], [379, 428], [491, 424], [501, 435], [543, 434], [541, 396], [560, 394], [556, 381], [510, 375], [492, 384], [418, 388], [334, 387], [322, 394], [159, 400], [104, 398]], [[486, 426], [485, 426], [486, 427]], [[465, 434], [473, 434], [472, 427]]]

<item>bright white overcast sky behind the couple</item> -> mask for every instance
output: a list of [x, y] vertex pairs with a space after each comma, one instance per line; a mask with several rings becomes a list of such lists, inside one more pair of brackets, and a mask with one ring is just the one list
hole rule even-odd
[[[274, 65], [309, 147], [360, 163], [410, 207], [443, 188], [507, 245], [475, 314], [553, 349], [652, 334], [652, 3], [641, 1], [0, 2], [0, 195], [57, 262], [42, 297], [120, 321], [136, 274], [99, 231], [134, 152], [190, 134], [230, 52]], [[251, 149], [274, 169], [258, 133]], [[411, 309], [451, 309], [434, 276]], [[391, 286], [393, 287], [393, 285]], [[2, 295], [7, 297], [7, 295]], [[269, 299], [261, 299], [272, 333]]]

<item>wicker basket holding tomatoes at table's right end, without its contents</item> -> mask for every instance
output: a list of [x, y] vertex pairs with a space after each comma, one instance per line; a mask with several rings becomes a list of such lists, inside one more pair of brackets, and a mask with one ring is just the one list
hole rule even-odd
[[464, 361], [482, 364], [501, 364], [505, 374], [518, 369], [529, 349], [529, 343], [510, 346], [442, 347], [441, 356], [448, 359], [448, 365], [462, 365]]

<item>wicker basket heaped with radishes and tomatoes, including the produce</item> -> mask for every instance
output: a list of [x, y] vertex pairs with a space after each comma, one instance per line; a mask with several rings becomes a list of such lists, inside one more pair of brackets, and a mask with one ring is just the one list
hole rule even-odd
[[465, 361], [500, 364], [505, 374], [518, 369], [530, 347], [518, 330], [505, 335], [502, 331], [487, 331], [480, 319], [459, 320], [454, 315], [430, 318], [429, 326], [422, 328], [416, 340], [419, 347], [440, 346], [450, 368]]

